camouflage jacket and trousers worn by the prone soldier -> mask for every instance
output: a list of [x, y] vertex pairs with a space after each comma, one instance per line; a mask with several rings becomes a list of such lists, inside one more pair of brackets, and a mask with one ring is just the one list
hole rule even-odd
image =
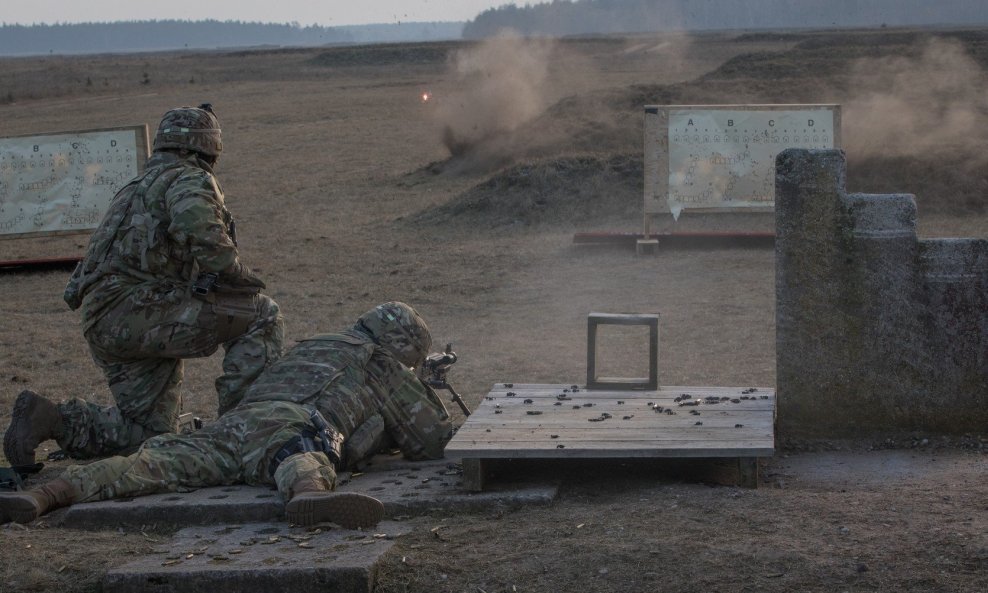
[[[387, 305], [393, 303], [382, 307]], [[274, 483], [286, 500], [300, 481], [315, 480], [332, 490], [336, 471], [321, 451], [292, 453], [271, 471], [279, 450], [312, 428], [312, 410], [343, 437], [350, 465], [384, 439], [410, 459], [440, 458], [452, 437], [449, 415], [435, 392], [403, 364], [421, 361], [424, 354], [399, 360], [394, 348], [400, 345], [384, 333], [358, 323], [340, 334], [304, 340], [215, 423], [190, 435], [154, 437], [128, 457], [71, 466], [62, 477], [79, 493], [75, 502], [241, 482]], [[427, 352], [431, 345], [431, 338], [415, 341], [409, 349]]]

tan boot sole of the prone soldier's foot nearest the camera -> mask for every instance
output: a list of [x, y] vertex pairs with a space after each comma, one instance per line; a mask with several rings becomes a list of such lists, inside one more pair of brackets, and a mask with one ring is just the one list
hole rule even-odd
[[315, 525], [331, 522], [347, 529], [373, 527], [384, 517], [384, 504], [356, 492], [303, 492], [285, 505], [288, 522]]

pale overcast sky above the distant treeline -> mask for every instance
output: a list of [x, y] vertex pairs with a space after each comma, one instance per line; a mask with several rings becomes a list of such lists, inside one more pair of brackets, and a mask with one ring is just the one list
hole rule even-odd
[[509, 0], [2, 0], [0, 3], [0, 22], [8, 24], [215, 19], [330, 27], [399, 21], [467, 21], [488, 8], [517, 4]]

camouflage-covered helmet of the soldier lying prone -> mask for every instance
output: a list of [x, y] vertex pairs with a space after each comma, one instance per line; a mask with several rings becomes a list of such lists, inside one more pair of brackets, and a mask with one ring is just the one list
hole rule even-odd
[[407, 367], [419, 367], [432, 348], [429, 326], [415, 309], [391, 301], [378, 305], [357, 320], [357, 327]]

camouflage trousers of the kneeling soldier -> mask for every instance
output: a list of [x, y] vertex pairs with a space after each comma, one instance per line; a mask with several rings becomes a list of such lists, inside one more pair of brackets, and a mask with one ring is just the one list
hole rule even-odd
[[184, 358], [223, 346], [216, 379], [219, 413], [233, 408], [250, 383], [282, 351], [284, 320], [277, 303], [253, 294], [213, 303], [147, 297], [125, 299], [86, 332], [115, 406], [82, 399], [59, 404], [59, 446], [77, 459], [133, 451], [148, 438], [178, 428]]

